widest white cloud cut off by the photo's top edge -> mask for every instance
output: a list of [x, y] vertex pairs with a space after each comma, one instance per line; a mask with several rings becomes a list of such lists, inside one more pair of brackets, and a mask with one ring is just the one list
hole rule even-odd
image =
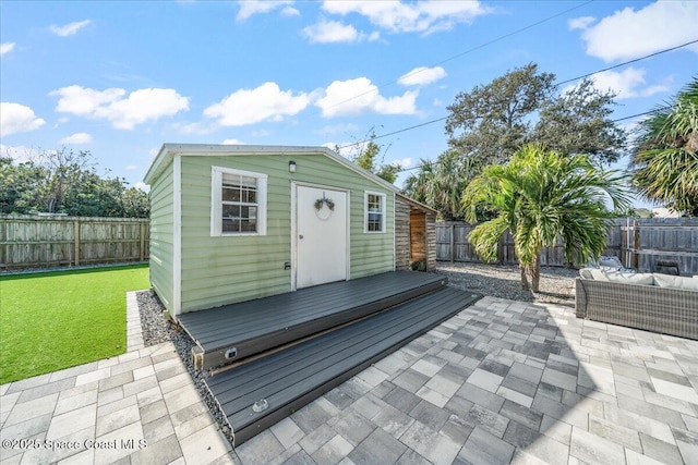
[[479, 1], [440, 0], [402, 3], [401, 1], [325, 1], [323, 10], [332, 14], [361, 14], [377, 27], [390, 33], [433, 33], [447, 30], [458, 23], [469, 23], [488, 13]]

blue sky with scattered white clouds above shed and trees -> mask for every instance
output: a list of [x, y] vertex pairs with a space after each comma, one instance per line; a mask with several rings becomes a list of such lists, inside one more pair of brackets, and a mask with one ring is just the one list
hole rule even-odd
[[[561, 83], [696, 40], [697, 24], [698, 1], [3, 0], [0, 150], [89, 150], [147, 189], [164, 143], [349, 156], [374, 131], [385, 162], [413, 169], [447, 148], [434, 120], [458, 93], [528, 63]], [[592, 78], [631, 129], [697, 75], [693, 44]]]

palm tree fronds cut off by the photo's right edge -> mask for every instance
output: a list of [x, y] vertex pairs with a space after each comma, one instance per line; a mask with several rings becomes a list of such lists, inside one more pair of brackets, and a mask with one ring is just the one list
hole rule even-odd
[[640, 123], [630, 166], [643, 197], [698, 217], [698, 78]]

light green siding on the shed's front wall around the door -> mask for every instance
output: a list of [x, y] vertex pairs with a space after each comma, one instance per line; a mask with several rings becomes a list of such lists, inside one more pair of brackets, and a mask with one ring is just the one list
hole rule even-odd
[[[298, 171], [288, 172], [296, 161]], [[268, 175], [267, 234], [210, 236], [212, 166]], [[291, 182], [350, 191], [350, 278], [394, 267], [394, 196], [388, 189], [322, 155], [182, 157], [182, 311], [289, 292]], [[384, 234], [363, 232], [364, 191], [386, 194]]]

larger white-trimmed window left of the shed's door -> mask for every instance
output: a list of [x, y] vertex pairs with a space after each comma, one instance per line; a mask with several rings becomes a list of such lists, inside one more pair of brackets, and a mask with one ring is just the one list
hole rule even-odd
[[212, 170], [210, 235], [265, 235], [267, 175]]

